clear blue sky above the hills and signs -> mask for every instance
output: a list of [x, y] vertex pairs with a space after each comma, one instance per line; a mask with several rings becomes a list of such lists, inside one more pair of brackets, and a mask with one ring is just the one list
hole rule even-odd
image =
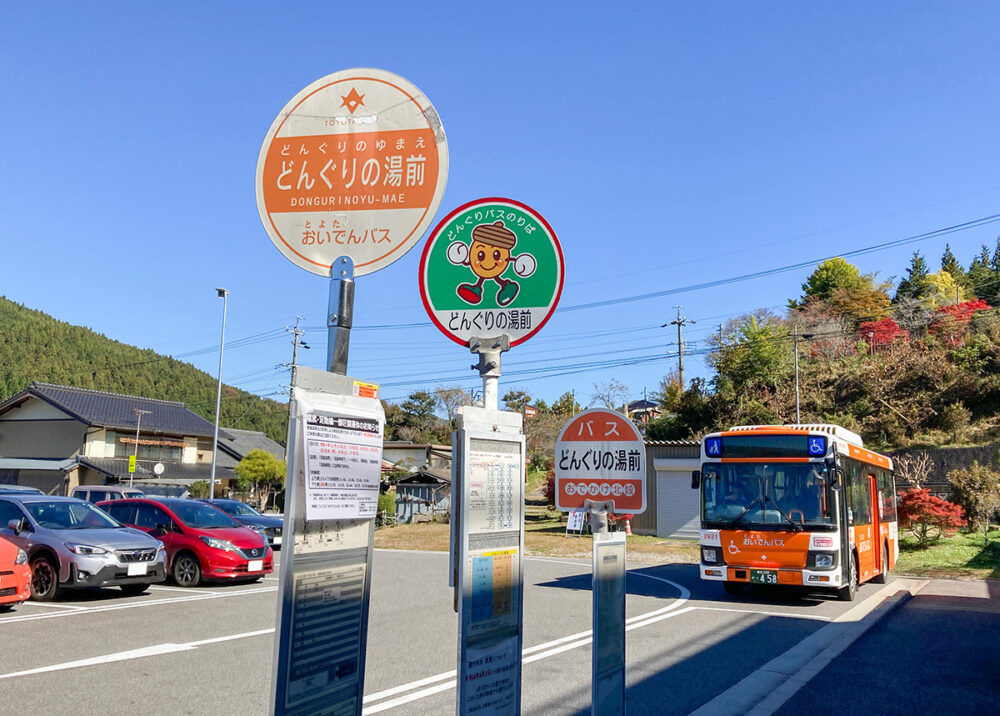
[[[618, 380], [634, 398], [717, 324], [783, 310], [800, 269], [634, 302], [1000, 213], [995, 3], [24, 3], [0, 44], [0, 294], [216, 374], [287, 390], [291, 336], [324, 367], [328, 282], [258, 218], [260, 145], [284, 104], [341, 69], [416, 84], [448, 135], [438, 219], [507, 196], [552, 225], [561, 306], [504, 355], [501, 395], [549, 402]], [[898, 277], [945, 242], [964, 263], [1000, 224], [854, 259]], [[421, 305], [421, 242], [360, 277], [349, 372], [383, 397], [479, 389]], [[611, 305], [565, 310], [595, 301]], [[415, 327], [403, 327], [420, 324]], [[230, 345], [231, 342], [231, 345]], [[658, 357], [659, 356], [659, 357]], [[619, 358], [628, 365], [598, 368]], [[710, 374], [701, 358], [686, 374]]]

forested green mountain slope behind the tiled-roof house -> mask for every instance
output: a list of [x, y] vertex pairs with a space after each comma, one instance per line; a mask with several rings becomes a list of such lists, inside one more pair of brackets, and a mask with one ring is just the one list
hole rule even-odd
[[[0, 400], [33, 380], [177, 400], [215, 420], [216, 377], [0, 296]], [[219, 412], [223, 428], [260, 430], [284, 443], [287, 407], [281, 403], [223, 385]]]

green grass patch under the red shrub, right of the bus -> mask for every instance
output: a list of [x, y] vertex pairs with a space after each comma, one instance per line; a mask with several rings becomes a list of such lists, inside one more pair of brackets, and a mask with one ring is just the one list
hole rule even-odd
[[903, 536], [899, 545], [897, 574], [957, 579], [1000, 579], [1000, 530], [983, 546], [982, 532], [958, 532], [927, 549]]

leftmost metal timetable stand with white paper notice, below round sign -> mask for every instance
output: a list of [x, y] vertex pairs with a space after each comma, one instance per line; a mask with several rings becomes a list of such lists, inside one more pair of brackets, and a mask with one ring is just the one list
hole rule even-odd
[[377, 398], [356, 394], [357, 382], [303, 366], [293, 372], [271, 682], [276, 715], [361, 714], [385, 416]]

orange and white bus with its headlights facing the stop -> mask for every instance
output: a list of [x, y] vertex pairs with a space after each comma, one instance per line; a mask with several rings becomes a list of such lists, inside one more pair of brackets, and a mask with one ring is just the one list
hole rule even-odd
[[899, 556], [892, 459], [837, 425], [752, 425], [706, 435], [701, 578], [835, 590], [885, 582]]

